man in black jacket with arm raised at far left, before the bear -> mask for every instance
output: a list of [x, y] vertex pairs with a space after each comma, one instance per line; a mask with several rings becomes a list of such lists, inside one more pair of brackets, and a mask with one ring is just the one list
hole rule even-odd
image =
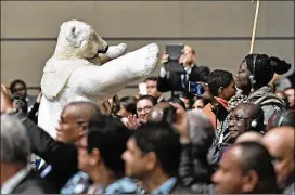
[[[90, 102], [73, 102], [66, 108], [69, 108], [69, 106], [73, 109], [62, 112], [61, 123], [64, 127], [60, 129], [61, 135], [59, 140], [63, 140], [60, 142], [52, 139], [24, 114], [14, 109], [7, 88], [4, 84], [1, 84], [1, 114], [13, 115], [24, 123], [30, 140], [31, 152], [40, 156], [48, 164], [42, 166], [38, 170], [38, 173], [57, 191], [79, 170], [76, 145], [80, 144], [84, 138], [87, 136], [88, 120], [94, 115], [102, 116], [99, 106]], [[69, 114], [72, 117], [68, 117]], [[69, 136], [69, 133], [76, 135]], [[67, 136], [63, 134], [67, 134]]]

